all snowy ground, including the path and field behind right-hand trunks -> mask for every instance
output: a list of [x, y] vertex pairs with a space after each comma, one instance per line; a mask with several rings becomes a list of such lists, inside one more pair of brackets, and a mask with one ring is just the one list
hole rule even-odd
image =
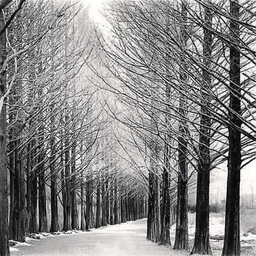
[[[189, 213], [189, 238], [193, 245], [194, 213]], [[158, 246], [146, 240], [147, 220], [129, 221], [91, 232], [79, 232], [70, 235], [54, 235], [42, 239], [28, 239], [27, 243], [12, 247], [11, 256], [184, 256], [186, 252], [174, 251], [172, 247]], [[243, 227], [243, 225], [242, 225]], [[247, 227], [246, 227], [247, 228]], [[242, 228], [241, 228], [242, 229]], [[242, 232], [246, 232], [243, 231]], [[211, 213], [211, 236], [224, 234], [224, 215]], [[175, 226], [170, 230], [171, 242], [174, 243]], [[242, 234], [241, 234], [242, 235]], [[256, 255], [256, 236], [241, 236], [241, 250], [244, 256]], [[221, 255], [223, 240], [211, 239], [213, 255]], [[192, 247], [190, 248], [192, 249]], [[15, 251], [14, 251], [15, 250]]]

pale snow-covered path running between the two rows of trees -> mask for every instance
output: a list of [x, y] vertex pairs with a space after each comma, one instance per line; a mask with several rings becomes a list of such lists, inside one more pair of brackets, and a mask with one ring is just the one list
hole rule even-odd
[[[17, 246], [19, 251], [12, 252], [11, 256], [170, 256], [170, 249], [146, 240], [146, 227], [146, 219], [143, 219], [91, 232], [30, 240], [31, 246]], [[177, 253], [176, 251], [173, 255], [184, 255]]]

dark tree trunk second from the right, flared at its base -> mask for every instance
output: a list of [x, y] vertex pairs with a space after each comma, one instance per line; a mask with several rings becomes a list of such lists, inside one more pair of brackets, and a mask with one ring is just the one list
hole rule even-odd
[[[204, 29], [204, 67], [211, 68], [212, 59], [212, 33], [208, 28], [212, 27], [212, 12], [205, 7]], [[202, 86], [205, 90], [211, 88], [211, 75], [207, 70], [202, 71]], [[191, 254], [212, 254], [209, 243], [209, 185], [211, 171], [210, 136], [211, 136], [211, 113], [207, 109], [211, 97], [202, 92], [201, 120], [199, 135], [199, 159], [197, 170], [197, 197], [196, 197], [196, 233], [194, 247]]]

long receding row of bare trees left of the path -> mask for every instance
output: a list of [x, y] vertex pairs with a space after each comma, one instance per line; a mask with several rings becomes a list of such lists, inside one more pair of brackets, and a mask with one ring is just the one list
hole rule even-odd
[[9, 239], [145, 217], [146, 190], [108, 150], [111, 121], [86, 67], [98, 66], [88, 8], [0, 7], [0, 255], [9, 255]]

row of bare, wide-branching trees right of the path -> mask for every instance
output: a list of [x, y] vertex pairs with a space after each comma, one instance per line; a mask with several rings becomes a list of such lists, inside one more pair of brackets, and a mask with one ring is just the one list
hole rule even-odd
[[189, 250], [188, 187], [197, 174], [191, 254], [212, 254], [210, 171], [227, 162], [223, 256], [240, 255], [240, 170], [255, 159], [255, 7], [142, 0], [106, 10], [111, 32], [99, 37], [111, 76], [91, 70], [119, 100], [106, 111], [126, 129], [127, 161], [148, 181], [147, 239], [170, 244], [175, 208], [174, 249]]

